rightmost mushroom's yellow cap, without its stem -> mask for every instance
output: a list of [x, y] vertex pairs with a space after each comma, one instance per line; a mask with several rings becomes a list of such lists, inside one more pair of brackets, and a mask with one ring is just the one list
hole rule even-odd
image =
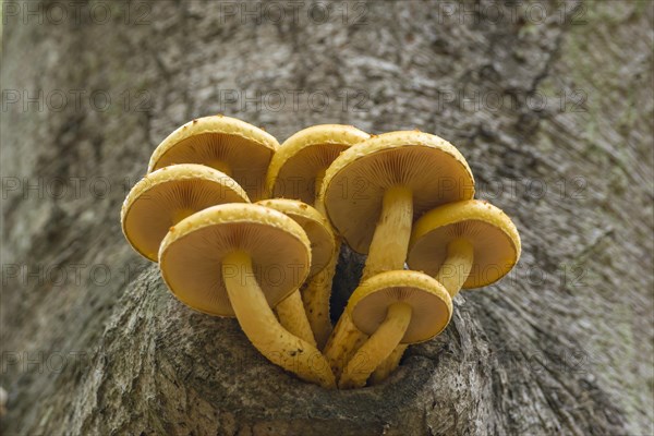
[[435, 276], [447, 258], [447, 245], [458, 238], [474, 250], [465, 289], [499, 280], [520, 258], [520, 235], [511, 219], [487, 202], [470, 199], [423, 215], [413, 226], [407, 263], [411, 269]]

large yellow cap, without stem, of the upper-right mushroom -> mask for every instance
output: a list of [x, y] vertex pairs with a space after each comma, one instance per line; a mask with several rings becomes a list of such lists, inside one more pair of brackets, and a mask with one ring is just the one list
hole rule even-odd
[[331, 164], [320, 190], [329, 220], [354, 251], [367, 253], [384, 193], [395, 185], [413, 191], [414, 217], [474, 195], [468, 162], [447, 141], [419, 131], [373, 136]]

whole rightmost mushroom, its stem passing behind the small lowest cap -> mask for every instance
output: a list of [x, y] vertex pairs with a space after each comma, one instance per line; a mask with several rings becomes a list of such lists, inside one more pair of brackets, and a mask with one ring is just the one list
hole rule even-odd
[[[479, 199], [457, 202], [423, 215], [414, 225], [407, 263], [440, 282], [453, 299], [461, 288], [481, 288], [505, 275], [520, 258], [520, 235], [499, 208]], [[398, 347], [373, 375], [379, 383], [398, 366]]]

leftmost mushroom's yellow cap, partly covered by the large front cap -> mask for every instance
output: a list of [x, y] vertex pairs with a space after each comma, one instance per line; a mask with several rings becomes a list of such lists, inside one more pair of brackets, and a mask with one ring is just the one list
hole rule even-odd
[[157, 262], [159, 245], [175, 216], [225, 203], [250, 203], [230, 177], [203, 165], [182, 164], [146, 174], [132, 187], [121, 211], [123, 233], [141, 255]]

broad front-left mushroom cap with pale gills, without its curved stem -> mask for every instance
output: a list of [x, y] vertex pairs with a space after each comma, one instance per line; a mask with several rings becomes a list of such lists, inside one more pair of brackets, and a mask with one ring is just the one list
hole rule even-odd
[[170, 229], [159, 250], [161, 276], [190, 307], [234, 316], [222, 259], [235, 251], [250, 254], [254, 276], [271, 307], [306, 280], [311, 267], [310, 241], [299, 223], [264, 206], [226, 204], [198, 211]]

